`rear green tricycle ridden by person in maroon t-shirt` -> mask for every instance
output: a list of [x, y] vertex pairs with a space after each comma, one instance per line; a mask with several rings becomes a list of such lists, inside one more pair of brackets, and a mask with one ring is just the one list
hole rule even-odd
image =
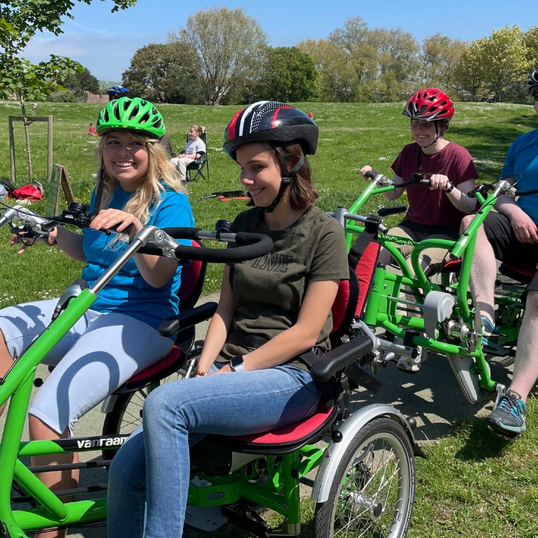
[[[462, 237], [455, 242], [426, 239], [415, 243], [408, 238], [388, 235], [388, 229], [378, 216], [359, 215], [372, 195], [395, 188], [392, 180], [376, 171], [367, 173], [366, 177], [371, 183], [349, 210], [339, 208], [334, 216], [344, 226], [350, 254], [353, 252], [353, 238], [366, 230], [394, 260], [396, 271], [391, 266], [375, 266], [364, 313], [356, 318], [357, 334], [370, 335], [375, 342], [370, 363], [373, 371], [392, 363], [400, 370], [417, 372], [426, 353], [436, 352], [448, 358], [468, 401], [476, 404], [492, 393], [497, 393], [497, 398], [500, 398], [506, 387], [491, 379], [486, 359], [488, 353], [482, 348], [482, 322], [468, 291], [476, 233], [499, 195], [525, 196], [538, 192], [538, 189], [520, 192], [505, 180], [494, 185], [480, 185], [469, 193], [469, 196], [477, 198], [479, 209]], [[429, 185], [429, 180], [425, 174], [417, 173], [410, 181], [399, 183], [397, 187], [412, 183]], [[379, 215], [405, 210], [405, 206], [386, 207], [379, 210]], [[398, 250], [400, 244], [413, 246], [412, 268]], [[424, 274], [419, 260], [421, 253], [432, 247], [447, 251], [447, 263], [437, 282]], [[359, 273], [363, 271], [360, 263], [357, 267]], [[503, 348], [503, 356], [514, 356], [523, 316], [519, 297], [530, 276], [528, 272], [506, 264], [499, 267], [495, 288], [495, 324], [500, 327], [499, 344]]]

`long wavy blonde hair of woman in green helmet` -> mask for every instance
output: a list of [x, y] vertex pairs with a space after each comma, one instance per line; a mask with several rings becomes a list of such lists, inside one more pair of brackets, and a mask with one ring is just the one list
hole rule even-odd
[[[118, 182], [114, 176], [108, 173], [103, 164], [103, 151], [107, 143], [107, 136], [108, 133], [103, 134], [99, 144], [95, 148], [95, 158], [98, 168], [96, 185], [98, 185], [100, 178], [103, 181], [101, 209], [109, 206]], [[186, 193], [186, 189], [181, 185], [178, 170], [168, 159], [168, 153], [160, 143], [160, 140], [138, 133], [133, 133], [133, 139], [144, 143], [146, 146], [148, 154], [147, 171], [140, 185], [122, 210], [137, 217], [142, 224], [147, 224], [150, 220], [150, 208], [155, 202], [157, 202], [157, 205], [160, 203], [161, 194], [165, 192], [166, 186], [178, 193]]]

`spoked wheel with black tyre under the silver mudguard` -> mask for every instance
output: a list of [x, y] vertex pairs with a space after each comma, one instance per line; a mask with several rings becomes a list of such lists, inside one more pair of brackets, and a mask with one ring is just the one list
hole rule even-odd
[[414, 491], [415, 459], [407, 432], [389, 417], [374, 419], [349, 442], [328, 500], [316, 504], [314, 536], [404, 538]]

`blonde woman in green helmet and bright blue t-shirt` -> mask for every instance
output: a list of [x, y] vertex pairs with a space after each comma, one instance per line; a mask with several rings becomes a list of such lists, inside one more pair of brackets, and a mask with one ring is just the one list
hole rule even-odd
[[[144, 225], [193, 226], [192, 210], [175, 168], [159, 138], [165, 125], [159, 111], [139, 98], [112, 101], [97, 119], [100, 169], [90, 210], [95, 219], [82, 234], [57, 226], [48, 243], [86, 264], [91, 286], [127, 246], [128, 237], [100, 230]], [[11, 245], [18, 243], [13, 238]], [[18, 253], [24, 252], [22, 247]], [[43, 361], [52, 373], [30, 407], [33, 440], [66, 438], [81, 416], [126, 380], [164, 357], [173, 341], [159, 335], [162, 320], [178, 313], [181, 266], [176, 260], [135, 254], [97, 296], [84, 316]], [[0, 374], [45, 330], [58, 300], [36, 301], [0, 310]], [[39, 456], [32, 465], [73, 463], [76, 454]], [[43, 473], [53, 490], [76, 487], [78, 472]], [[63, 536], [64, 532], [40, 536]]]

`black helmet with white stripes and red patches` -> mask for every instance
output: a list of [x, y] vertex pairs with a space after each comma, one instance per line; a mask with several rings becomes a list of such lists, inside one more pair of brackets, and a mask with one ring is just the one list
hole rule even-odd
[[238, 147], [251, 142], [298, 141], [306, 154], [317, 147], [318, 128], [305, 112], [279, 101], [259, 101], [237, 112], [224, 130], [224, 151], [236, 160]]

